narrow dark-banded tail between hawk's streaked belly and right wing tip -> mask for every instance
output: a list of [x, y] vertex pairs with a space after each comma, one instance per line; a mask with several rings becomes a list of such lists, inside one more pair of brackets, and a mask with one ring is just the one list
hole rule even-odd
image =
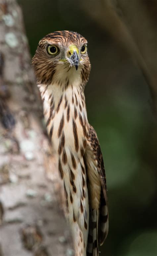
[[87, 242], [87, 256], [99, 256], [98, 221], [99, 211], [92, 209], [89, 213], [89, 232]]

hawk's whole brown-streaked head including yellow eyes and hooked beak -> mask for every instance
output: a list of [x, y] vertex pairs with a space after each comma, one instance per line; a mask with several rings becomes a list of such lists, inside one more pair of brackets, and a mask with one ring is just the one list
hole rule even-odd
[[38, 83], [67, 80], [85, 85], [90, 72], [87, 41], [72, 31], [57, 31], [40, 40], [32, 59]]

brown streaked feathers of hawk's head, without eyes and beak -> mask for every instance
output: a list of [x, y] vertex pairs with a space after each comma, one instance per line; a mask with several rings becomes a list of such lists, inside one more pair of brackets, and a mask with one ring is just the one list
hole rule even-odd
[[[37, 82], [39, 84], [52, 84], [57, 78], [60, 78], [60, 74], [62, 74], [61, 79], [77, 75], [78, 78], [80, 78], [82, 87], [84, 87], [88, 81], [91, 66], [87, 52], [84, 54], [81, 54], [80, 52], [81, 47], [86, 43], [87, 41], [84, 37], [71, 31], [50, 33], [41, 39], [32, 59]], [[48, 54], [48, 45], [57, 46], [59, 52], [56, 55]], [[71, 66], [71, 63], [68, 60], [60, 61], [62, 59], [67, 59], [70, 45], [76, 45], [79, 50], [78, 55], [80, 61], [78, 70], [76, 70], [74, 66]]]

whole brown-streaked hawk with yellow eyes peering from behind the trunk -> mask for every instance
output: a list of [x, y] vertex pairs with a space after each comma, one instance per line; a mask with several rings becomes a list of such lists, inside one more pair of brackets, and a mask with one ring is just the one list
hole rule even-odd
[[64, 184], [75, 256], [98, 256], [108, 234], [108, 207], [103, 157], [85, 105], [87, 41], [72, 31], [50, 33], [40, 40], [32, 65]]

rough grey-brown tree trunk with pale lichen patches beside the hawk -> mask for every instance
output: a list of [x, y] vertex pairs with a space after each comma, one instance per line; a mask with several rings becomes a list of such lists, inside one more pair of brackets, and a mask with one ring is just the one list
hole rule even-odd
[[72, 255], [30, 61], [21, 9], [0, 0], [0, 256]]

